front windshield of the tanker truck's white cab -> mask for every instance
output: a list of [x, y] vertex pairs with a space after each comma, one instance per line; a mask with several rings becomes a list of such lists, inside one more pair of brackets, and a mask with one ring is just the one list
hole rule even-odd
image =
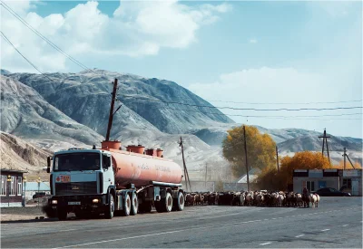
[[101, 168], [100, 154], [92, 152], [56, 155], [54, 171], [97, 170]]

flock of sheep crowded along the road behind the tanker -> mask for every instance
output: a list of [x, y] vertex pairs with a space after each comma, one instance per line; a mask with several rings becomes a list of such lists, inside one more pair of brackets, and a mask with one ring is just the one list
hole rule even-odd
[[185, 193], [185, 206], [296, 206], [318, 207], [318, 194], [301, 195], [294, 192], [240, 191], [240, 192], [191, 192]]

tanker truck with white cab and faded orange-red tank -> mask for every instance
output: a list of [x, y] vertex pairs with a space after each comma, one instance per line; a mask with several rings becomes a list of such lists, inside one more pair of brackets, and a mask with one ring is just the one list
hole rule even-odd
[[102, 148], [70, 148], [47, 160], [49, 206], [60, 220], [104, 214], [137, 215], [182, 211], [182, 168], [162, 157], [162, 149], [128, 146], [105, 140]]

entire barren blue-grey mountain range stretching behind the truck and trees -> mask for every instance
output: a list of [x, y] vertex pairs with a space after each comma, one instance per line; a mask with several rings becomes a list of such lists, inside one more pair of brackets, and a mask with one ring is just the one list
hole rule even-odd
[[[100, 146], [114, 79], [119, 82], [115, 108], [121, 108], [113, 118], [111, 139], [122, 140], [123, 146], [163, 148], [166, 157], [182, 164], [178, 143], [182, 136], [191, 177], [201, 177], [205, 163], [227, 166], [221, 141], [228, 129], [240, 125], [172, 81], [96, 69], [45, 75], [1, 70], [1, 74], [1, 130], [47, 150]], [[321, 151], [317, 131], [257, 128], [270, 134], [281, 155]], [[362, 139], [331, 136], [329, 149], [331, 155], [337, 154], [333, 161], [340, 160], [344, 147], [361, 163]]]

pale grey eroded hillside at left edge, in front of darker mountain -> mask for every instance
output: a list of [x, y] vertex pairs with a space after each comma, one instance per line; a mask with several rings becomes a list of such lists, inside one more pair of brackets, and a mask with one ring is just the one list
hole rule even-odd
[[94, 144], [103, 136], [70, 119], [31, 87], [2, 76], [1, 130], [22, 139]]

